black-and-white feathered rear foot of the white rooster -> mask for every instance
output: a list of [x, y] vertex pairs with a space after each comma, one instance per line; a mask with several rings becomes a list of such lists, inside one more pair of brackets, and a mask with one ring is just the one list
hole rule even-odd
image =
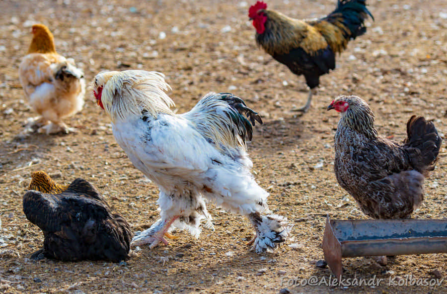
[[248, 215], [256, 231], [256, 237], [250, 241], [251, 250], [256, 253], [272, 251], [279, 243], [286, 241], [292, 226], [287, 218], [277, 214], [261, 215], [259, 212]]

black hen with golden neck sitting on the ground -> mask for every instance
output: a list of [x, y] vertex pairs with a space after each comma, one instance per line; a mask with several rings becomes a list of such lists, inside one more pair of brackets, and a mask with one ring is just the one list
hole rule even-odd
[[44, 234], [44, 248], [32, 255], [63, 261], [128, 258], [133, 234], [127, 221], [113, 214], [104, 198], [83, 179], [59, 186], [45, 173], [34, 172], [23, 196], [23, 212]]

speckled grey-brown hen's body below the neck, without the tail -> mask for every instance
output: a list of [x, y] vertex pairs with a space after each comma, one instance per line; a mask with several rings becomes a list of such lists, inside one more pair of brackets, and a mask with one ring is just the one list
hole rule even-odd
[[381, 137], [359, 142], [357, 138], [336, 146], [334, 168], [340, 186], [373, 218], [407, 217], [422, 201], [424, 177], [412, 170], [398, 144]]

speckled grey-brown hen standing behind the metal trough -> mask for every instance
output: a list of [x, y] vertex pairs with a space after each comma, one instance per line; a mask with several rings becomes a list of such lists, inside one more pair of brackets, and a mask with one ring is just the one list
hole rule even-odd
[[327, 107], [341, 113], [335, 133], [335, 175], [373, 218], [407, 218], [424, 199], [423, 182], [435, 168], [441, 137], [433, 122], [413, 115], [398, 144], [377, 135], [369, 105], [341, 96]]

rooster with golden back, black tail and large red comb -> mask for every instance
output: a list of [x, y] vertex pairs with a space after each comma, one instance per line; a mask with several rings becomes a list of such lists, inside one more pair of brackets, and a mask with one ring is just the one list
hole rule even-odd
[[339, 0], [334, 11], [313, 21], [267, 10], [262, 1], [248, 10], [256, 28], [256, 43], [294, 74], [304, 75], [310, 88], [306, 104], [299, 109], [304, 112], [309, 109], [320, 76], [335, 69], [335, 54], [341, 53], [350, 39], [366, 32], [368, 15], [373, 18], [366, 0]]

